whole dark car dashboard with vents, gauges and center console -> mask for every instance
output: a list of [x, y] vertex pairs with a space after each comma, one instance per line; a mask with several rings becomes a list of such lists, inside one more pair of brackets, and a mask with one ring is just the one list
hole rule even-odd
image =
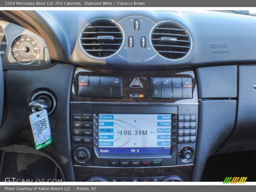
[[[200, 181], [210, 156], [255, 150], [254, 16], [1, 11], [0, 26], [1, 148], [39, 151], [66, 181]], [[52, 143], [36, 150], [38, 100]]]

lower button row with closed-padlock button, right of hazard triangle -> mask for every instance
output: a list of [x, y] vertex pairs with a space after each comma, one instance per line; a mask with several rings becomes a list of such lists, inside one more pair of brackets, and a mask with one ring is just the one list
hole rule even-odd
[[151, 98], [192, 98], [192, 88], [150, 87]]

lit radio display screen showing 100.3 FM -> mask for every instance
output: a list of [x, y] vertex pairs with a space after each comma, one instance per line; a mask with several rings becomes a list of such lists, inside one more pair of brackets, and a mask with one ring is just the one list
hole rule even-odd
[[99, 153], [171, 153], [171, 119], [171, 114], [99, 114]]

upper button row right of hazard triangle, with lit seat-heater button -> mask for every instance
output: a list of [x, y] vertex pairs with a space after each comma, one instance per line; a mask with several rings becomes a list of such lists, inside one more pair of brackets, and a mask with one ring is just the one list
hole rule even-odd
[[192, 80], [191, 80], [191, 78], [151, 77], [150, 78], [150, 87], [192, 88]]

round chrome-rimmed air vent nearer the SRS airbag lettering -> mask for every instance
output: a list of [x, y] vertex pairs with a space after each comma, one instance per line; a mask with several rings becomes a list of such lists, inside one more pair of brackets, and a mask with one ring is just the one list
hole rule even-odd
[[174, 21], [157, 23], [152, 28], [150, 37], [155, 51], [167, 59], [183, 59], [192, 48], [192, 39], [188, 30]]

